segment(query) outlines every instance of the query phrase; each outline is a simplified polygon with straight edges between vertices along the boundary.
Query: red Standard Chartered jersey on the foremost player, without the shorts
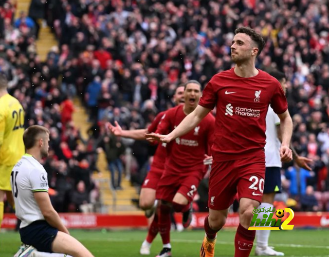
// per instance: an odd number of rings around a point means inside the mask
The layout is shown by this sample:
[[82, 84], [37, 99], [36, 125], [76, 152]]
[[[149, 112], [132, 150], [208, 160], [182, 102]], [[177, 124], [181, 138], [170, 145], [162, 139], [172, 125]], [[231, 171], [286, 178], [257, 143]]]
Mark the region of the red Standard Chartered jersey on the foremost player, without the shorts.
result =
[[200, 106], [216, 106], [212, 155], [217, 162], [264, 154], [266, 113], [277, 114], [288, 104], [280, 83], [268, 73], [244, 78], [234, 68], [214, 75], [203, 91]]

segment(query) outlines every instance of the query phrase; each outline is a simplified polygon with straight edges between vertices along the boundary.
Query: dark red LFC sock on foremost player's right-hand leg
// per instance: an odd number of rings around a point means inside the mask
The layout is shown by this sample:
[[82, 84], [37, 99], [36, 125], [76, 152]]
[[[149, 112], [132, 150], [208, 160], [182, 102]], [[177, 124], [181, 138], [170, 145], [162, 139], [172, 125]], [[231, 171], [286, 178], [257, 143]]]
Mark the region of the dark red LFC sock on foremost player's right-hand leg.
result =
[[255, 239], [256, 231], [248, 230], [239, 224], [235, 234], [235, 253], [234, 257], [248, 257]]

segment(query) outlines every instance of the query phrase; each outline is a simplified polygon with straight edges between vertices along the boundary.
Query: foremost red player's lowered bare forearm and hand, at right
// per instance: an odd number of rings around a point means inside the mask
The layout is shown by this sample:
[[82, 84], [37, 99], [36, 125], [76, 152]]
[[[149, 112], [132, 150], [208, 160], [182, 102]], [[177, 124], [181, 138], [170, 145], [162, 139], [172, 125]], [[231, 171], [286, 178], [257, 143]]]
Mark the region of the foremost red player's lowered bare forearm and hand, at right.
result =
[[291, 135], [293, 134], [293, 120], [291, 120], [289, 111], [278, 114], [280, 118], [280, 130], [282, 144], [280, 148], [280, 156], [282, 162], [291, 162], [293, 160], [293, 152], [289, 148]]

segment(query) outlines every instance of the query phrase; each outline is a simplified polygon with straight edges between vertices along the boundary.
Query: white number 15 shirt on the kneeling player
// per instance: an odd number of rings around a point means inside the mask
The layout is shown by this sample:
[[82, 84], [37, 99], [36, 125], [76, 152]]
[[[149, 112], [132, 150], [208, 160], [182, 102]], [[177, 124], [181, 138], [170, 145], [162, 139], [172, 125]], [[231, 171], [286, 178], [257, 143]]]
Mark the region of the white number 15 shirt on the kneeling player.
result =
[[34, 221], [45, 220], [33, 192], [48, 192], [45, 168], [30, 154], [25, 154], [13, 167], [10, 178], [16, 216], [24, 228]]

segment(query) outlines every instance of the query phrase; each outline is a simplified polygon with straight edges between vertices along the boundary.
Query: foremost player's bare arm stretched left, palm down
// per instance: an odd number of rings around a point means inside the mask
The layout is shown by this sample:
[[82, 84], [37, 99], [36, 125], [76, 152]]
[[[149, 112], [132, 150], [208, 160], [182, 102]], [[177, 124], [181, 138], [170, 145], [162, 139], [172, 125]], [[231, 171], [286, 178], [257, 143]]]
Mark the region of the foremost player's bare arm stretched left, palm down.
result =
[[185, 135], [190, 130], [195, 128], [202, 119], [211, 111], [211, 109], [198, 105], [193, 112], [187, 115], [184, 120], [168, 135], [160, 135], [156, 133], [146, 134], [147, 140], [158, 140], [164, 143], [176, 139], [181, 135]]

